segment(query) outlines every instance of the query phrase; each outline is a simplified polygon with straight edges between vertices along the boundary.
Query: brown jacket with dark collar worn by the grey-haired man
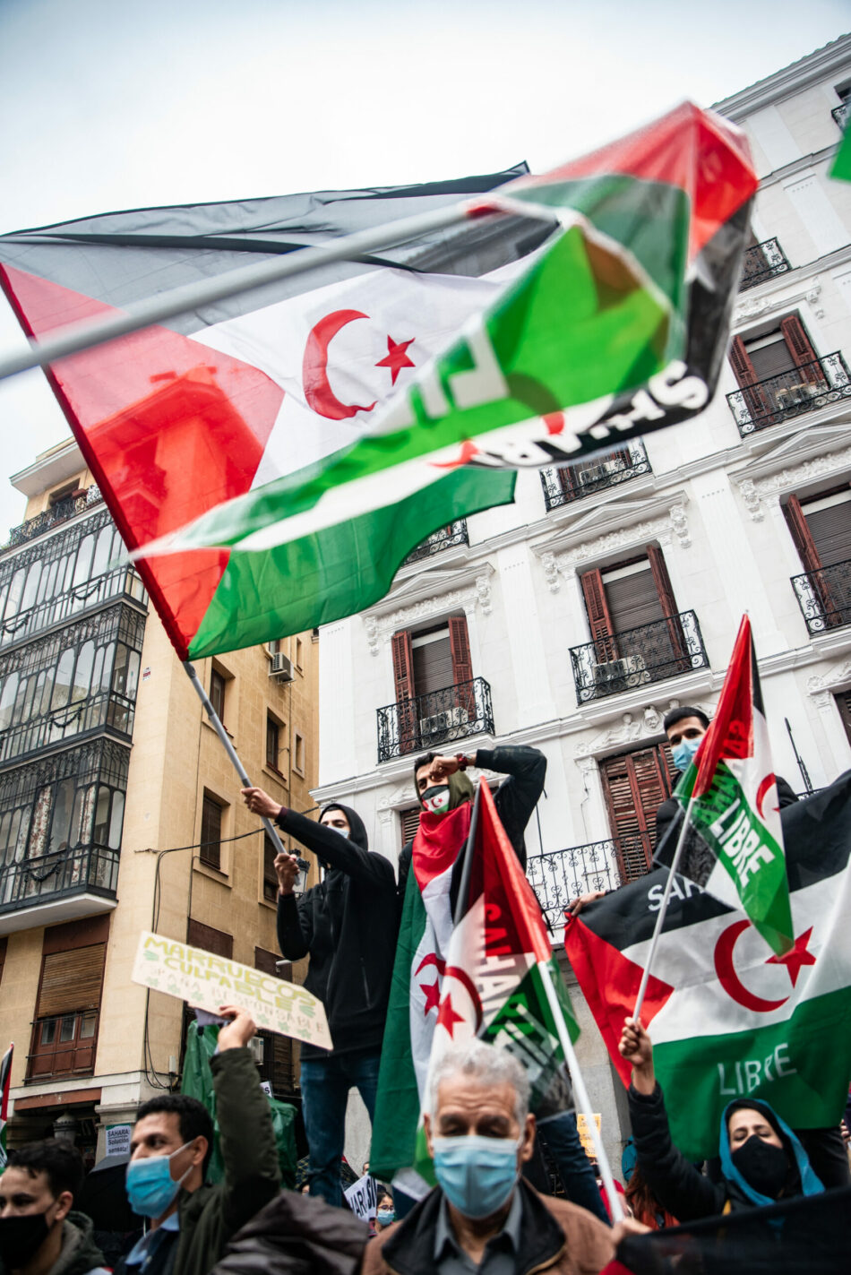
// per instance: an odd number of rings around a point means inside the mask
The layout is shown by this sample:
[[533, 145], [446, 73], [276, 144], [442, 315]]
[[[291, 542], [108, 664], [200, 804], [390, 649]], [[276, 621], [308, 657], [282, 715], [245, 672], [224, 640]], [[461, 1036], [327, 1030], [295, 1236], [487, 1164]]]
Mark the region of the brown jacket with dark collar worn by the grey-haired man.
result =
[[[614, 1257], [611, 1232], [586, 1209], [540, 1196], [520, 1179], [522, 1195], [516, 1275], [596, 1275]], [[434, 1187], [403, 1221], [371, 1239], [363, 1275], [434, 1275], [434, 1232], [442, 1191]]]

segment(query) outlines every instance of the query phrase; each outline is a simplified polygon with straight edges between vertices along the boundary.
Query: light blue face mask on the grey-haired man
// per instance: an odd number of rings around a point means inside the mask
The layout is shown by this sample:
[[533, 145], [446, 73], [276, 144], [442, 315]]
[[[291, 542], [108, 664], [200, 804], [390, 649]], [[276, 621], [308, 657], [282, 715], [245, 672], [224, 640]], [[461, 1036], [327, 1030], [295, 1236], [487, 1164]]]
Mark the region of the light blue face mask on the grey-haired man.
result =
[[436, 1137], [434, 1174], [450, 1204], [465, 1218], [488, 1218], [508, 1200], [517, 1181], [522, 1139]]

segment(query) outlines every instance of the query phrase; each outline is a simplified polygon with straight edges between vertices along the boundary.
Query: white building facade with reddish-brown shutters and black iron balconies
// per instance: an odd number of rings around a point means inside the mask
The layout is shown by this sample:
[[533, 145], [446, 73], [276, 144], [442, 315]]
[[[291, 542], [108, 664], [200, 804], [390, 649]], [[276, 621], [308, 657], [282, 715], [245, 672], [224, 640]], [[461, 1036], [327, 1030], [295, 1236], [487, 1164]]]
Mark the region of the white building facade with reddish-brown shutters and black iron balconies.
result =
[[[828, 177], [850, 101], [843, 37], [716, 106], [761, 189], [706, 412], [521, 472], [513, 505], [432, 537], [381, 603], [321, 630], [315, 796], [355, 806], [391, 861], [418, 754], [535, 745], [529, 875], [558, 935], [567, 899], [646, 871], [675, 778], [662, 717], [712, 715], [745, 611], [777, 773], [805, 792], [851, 765], [851, 185]], [[623, 1091], [580, 1010], [617, 1165]]]

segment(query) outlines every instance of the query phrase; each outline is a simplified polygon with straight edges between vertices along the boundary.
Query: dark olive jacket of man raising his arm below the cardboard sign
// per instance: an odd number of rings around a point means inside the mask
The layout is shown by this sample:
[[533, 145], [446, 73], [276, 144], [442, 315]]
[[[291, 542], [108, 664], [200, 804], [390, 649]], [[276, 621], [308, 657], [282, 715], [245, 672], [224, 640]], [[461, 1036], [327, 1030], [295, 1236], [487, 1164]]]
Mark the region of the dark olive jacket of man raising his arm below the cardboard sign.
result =
[[278, 1145], [257, 1065], [247, 1049], [210, 1060], [224, 1178], [181, 1193], [173, 1275], [208, 1275], [231, 1237], [280, 1188]]

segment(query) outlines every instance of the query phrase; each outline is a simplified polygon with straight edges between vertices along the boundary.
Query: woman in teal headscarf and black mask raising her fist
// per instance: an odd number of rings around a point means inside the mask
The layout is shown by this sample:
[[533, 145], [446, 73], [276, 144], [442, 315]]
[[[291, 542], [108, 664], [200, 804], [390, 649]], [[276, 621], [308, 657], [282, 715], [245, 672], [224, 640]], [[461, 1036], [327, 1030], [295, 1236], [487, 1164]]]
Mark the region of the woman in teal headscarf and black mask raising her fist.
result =
[[638, 1168], [660, 1205], [680, 1221], [824, 1190], [795, 1133], [757, 1098], [738, 1098], [725, 1107], [719, 1132], [721, 1181], [703, 1177], [671, 1141], [652, 1044], [636, 1019], [626, 1020], [619, 1049], [632, 1063], [628, 1099]]

